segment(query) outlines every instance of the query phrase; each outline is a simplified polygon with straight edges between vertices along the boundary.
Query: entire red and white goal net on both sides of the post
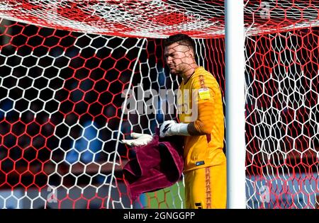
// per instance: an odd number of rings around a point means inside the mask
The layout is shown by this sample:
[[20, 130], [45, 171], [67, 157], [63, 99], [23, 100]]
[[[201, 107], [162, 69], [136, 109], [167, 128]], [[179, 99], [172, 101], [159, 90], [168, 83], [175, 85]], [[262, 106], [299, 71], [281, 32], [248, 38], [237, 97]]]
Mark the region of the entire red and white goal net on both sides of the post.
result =
[[[134, 153], [120, 140], [176, 118], [158, 97], [180, 83], [168, 35], [195, 38], [224, 94], [223, 5], [0, 1], [0, 207], [183, 208], [183, 179], [130, 200], [121, 170]], [[318, 6], [245, 1], [248, 208], [319, 204]]]

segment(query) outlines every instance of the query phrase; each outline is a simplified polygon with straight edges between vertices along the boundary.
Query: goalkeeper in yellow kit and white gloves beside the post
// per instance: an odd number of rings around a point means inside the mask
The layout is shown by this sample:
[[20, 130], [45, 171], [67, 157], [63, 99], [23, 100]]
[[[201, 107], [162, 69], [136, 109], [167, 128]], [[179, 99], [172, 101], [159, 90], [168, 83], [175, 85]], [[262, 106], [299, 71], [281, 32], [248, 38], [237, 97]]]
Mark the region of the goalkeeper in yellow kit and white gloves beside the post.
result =
[[[172, 35], [164, 40], [164, 57], [171, 74], [183, 78], [177, 105], [179, 123], [164, 121], [160, 137], [184, 135], [186, 208], [226, 207], [226, 159], [223, 153], [224, 115], [218, 82], [195, 61], [194, 40]], [[152, 137], [123, 140], [137, 146]]]

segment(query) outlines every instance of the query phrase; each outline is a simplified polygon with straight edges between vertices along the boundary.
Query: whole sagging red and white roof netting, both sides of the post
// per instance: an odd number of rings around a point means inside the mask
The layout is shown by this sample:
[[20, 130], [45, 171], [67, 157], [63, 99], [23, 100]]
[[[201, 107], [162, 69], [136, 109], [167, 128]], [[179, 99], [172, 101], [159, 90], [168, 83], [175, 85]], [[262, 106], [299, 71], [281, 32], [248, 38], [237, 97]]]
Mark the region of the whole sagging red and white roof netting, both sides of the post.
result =
[[[224, 34], [224, 1], [21, 0], [1, 1], [0, 15], [61, 30], [162, 38], [183, 32], [194, 38]], [[245, 0], [247, 34], [318, 25], [316, 0]]]

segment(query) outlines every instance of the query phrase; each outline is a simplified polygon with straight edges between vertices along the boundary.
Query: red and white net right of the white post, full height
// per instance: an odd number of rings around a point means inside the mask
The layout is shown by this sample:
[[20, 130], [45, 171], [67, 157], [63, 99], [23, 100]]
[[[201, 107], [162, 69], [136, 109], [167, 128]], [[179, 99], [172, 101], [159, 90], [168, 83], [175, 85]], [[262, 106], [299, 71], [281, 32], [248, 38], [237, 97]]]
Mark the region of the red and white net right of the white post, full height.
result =
[[245, 8], [255, 18], [245, 40], [247, 207], [317, 208], [318, 1], [253, 3]]

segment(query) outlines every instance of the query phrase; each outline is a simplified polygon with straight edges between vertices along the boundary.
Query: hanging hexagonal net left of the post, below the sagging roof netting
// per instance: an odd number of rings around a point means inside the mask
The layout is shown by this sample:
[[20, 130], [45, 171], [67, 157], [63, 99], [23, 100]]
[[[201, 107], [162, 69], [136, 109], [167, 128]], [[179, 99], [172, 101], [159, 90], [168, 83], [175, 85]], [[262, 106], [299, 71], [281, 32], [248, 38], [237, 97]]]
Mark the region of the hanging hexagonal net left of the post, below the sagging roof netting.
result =
[[[220, 86], [223, 45], [223, 38], [196, 39], [198, 63]], [[132, 201], [121, 171], [134, 156], [121, 139], [154, 133], [176, 117], [153, 101], [180, 81], [164, 69], [161, 39], [1, 19], [0, 52], [0, 207], [183, 207], [182, 181]], [[124, 106], [127, 89], [137, 94], [135, 104], [157, 106], [156, 113]]]

